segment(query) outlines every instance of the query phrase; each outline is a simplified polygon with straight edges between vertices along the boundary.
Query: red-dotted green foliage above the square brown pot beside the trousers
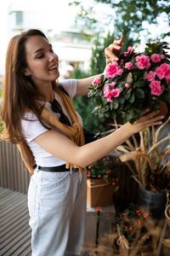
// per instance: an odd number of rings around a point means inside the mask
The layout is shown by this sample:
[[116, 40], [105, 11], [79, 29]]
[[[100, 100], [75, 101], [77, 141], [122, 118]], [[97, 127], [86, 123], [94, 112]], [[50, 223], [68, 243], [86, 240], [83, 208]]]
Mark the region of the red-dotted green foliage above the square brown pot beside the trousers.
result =
[[88, 178], [101, 178], [117, 187], [120, 166], [121, 161], [118, 158], [113, 155], [105, 156], [93, 165], [88, 166]]

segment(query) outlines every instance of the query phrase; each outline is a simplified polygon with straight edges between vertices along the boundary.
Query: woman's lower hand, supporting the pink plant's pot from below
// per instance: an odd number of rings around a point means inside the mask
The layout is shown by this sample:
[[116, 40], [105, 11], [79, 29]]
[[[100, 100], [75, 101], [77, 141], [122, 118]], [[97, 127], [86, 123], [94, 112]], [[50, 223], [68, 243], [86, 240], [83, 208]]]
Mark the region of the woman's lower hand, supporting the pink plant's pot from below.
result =
[[144, 130], [147, 127], [150, 127], [151, 125], [161, 125], [161, 119], [164, 119], [163, 115], [157, 116], [157, 112], [150, 112], [150, 109], [146, 109], [143, 112], [143, 116], [138, 119], [136, 122], [134, 122], [133, 125], [131, 125], [133, 129], [133, 133], [139, 132]]

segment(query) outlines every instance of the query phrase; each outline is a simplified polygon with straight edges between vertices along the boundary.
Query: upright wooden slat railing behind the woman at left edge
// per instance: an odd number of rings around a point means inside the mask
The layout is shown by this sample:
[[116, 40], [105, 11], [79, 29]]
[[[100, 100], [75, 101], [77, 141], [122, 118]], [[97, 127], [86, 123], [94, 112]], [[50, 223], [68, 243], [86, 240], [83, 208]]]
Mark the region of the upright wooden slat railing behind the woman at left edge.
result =
[[24, 170], [24, 163], [16, 146], [0, 142], [0, 186], [26, 193], [30, 174]]

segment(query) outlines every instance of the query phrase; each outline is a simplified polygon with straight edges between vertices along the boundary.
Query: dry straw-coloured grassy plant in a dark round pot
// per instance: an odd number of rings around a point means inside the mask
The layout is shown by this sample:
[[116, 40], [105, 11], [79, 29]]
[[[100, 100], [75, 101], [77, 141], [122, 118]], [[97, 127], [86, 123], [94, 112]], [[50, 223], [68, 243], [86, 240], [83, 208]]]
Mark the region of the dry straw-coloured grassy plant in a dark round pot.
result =
[[[151, 127], [139, 132], [116, 148], [119, 157], [139, 183], [139, 204], [150, 207], [155, 218], [161, 218], [170, 190], [170, 117], [159, 128]], [[167, 129], [167, 136], [161, 131]], [[153, 201], [154, 200], [154, 201]], [[160, 204], [159, 204], [160, 203]], [[151, 209], [153, 208], [153, 209]]]

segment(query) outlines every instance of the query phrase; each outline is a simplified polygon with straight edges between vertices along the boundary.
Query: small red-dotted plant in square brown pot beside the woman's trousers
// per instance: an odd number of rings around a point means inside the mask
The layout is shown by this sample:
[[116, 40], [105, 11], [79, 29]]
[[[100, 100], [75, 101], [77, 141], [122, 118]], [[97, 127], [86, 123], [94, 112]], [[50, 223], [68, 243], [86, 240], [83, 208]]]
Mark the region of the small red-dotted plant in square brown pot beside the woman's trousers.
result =
[[111, 154], [88, 166], [88, 206], [106, 207], [113, 204], [113, 193], [119, 183], [117, 172], [120, 172], [120, 168], [121, 161]]

